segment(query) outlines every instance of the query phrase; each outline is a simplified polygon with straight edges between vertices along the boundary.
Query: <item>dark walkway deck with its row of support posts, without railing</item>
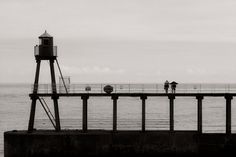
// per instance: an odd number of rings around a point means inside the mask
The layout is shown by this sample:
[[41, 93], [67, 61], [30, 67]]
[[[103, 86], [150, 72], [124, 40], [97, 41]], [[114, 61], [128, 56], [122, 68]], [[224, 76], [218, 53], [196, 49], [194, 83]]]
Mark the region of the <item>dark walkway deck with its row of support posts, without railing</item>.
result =
[[[69, 94], [30, 94], [30, 97], [80, 97], [83, 102], [83, 131], [86, 132], [87, 129], [87, 116], [88, 116], [88, 99], [90, 97], [110, 97], [113, 101], [113, 131], [116, 131], [117, 128], [117, 100], [120, 97], [139, 97], [142, 102], [142, 131], [145, 131], [145, 109], [146, 109], [146, 99], [148, 97], [167, 97], [169, 99], [169, 131], [174, 131], [174, 100], [176, 97], [193, 97], [196, 98], [197, 105], [197, 128], [198, 132], [202, 132], [202, 100], [204, 97], [224, 97], [226, 105], [226, 134], [231, 134], [231, 100], [236, 93], [174, 93], [174, 94], [165, 94], [165, 93], [115, 93], [115, 94], [106, 94], [106, 93], [69, 93]], [[60, 122], [60, 120], [59, 120]]]

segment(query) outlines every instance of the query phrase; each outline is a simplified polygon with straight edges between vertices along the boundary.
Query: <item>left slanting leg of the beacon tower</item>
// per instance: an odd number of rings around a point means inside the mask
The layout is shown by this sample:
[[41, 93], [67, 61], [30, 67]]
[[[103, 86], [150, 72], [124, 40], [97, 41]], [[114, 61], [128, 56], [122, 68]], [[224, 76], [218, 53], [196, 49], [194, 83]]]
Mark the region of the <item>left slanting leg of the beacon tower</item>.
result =
[[36, 60], [37, 67], [36, 67], [36, 73], [35, 73], [35, 80], [34, 80], [34, 86], [33, 86], [33, 94], [34, 96], [31, 97], [31, 109], [30, 109], [30, 118], [29, 118], [29, 124], [28, 124], [28, 132], [32, 132], [34, 129], [34, 118], [35, 118], [35, 109], [36, 109], [36, 102], [38, 97], [36, 94], [38, 93], [38, 82], [39, 82], [39, 72], [40, 72], [40, 60]]

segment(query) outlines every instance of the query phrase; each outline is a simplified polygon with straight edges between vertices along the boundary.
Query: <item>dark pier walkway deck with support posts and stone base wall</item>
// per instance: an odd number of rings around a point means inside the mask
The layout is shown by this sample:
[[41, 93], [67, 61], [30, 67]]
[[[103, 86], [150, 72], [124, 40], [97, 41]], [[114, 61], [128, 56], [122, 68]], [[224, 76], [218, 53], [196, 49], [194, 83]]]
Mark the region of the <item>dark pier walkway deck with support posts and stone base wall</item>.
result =
[[[11, 131], [4, 134], [5, 157], [17, 156], [100, 156], [100, 155], [232, 155], [236, 150], [236, 134], [231, 131], [231, 100], [236, 93], [37, 93], [31, 98], [80, 97], [82, 101], [82, 129], [61, 130], [60, 119], [55, 130]], [[91, 97], [108, 97], [113, 105], [112, 130], [88, 128], [88, 100]], [[118, 99], [139, 97], [142, 109], [140, 131], [117, 130]], [[166, 97], [169, 100], [169, 130], [146, 129], [146, 100]], [[193, 97], [197, 105], [197, 130], [174, 129], [175, 98]], [[226, 105], [225, 133], [202, 132], [202, 106], [206, 97], [222, 97]], [[56, 119], [54, 119], [56, 120]], [[59, 126], [56, 126], [59, 124]], [[59, 130], [58, 130], [59, 128]], [[14, 148], [14, 149], [13, 149]], [[24, 148], [24, 149], [22, 149]], [[12, 151], [14, 150], [14, 151]]]

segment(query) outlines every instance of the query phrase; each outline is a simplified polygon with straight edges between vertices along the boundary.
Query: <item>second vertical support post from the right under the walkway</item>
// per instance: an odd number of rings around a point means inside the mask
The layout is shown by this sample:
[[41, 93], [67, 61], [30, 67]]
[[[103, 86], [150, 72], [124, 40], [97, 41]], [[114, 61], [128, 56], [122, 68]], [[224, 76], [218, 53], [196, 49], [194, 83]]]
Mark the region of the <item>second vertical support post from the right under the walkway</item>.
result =
[[196, 96], [197, 99], [197, 130], [199, 133], [202, 133], [202, 100], [203, 96]]

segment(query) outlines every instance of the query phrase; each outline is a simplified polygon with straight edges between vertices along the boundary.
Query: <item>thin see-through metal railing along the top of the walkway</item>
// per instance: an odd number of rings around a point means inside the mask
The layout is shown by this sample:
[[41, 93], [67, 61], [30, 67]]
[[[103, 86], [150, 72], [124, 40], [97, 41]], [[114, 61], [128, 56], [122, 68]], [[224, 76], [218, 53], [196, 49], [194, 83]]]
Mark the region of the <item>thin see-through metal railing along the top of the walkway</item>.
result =
[[[105, 93], [104, 87], [113, 87], [112, 93], [165, 93], [163, 84], [66, 84], [68, 93]], [[38, 93], [66, 93], [63, 84], [38, 84]], [[34, 85], [32, 85], [33, 91]], [[171, 93], [171, 87], [168, 90]], [[176, 93], [236, 93], [236, 84], [178, 84]]]

